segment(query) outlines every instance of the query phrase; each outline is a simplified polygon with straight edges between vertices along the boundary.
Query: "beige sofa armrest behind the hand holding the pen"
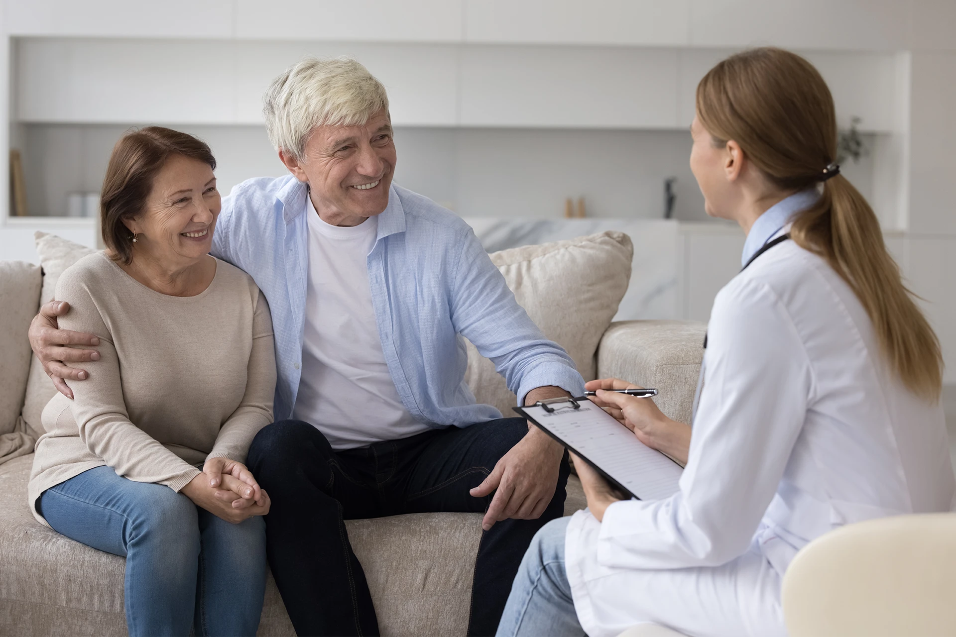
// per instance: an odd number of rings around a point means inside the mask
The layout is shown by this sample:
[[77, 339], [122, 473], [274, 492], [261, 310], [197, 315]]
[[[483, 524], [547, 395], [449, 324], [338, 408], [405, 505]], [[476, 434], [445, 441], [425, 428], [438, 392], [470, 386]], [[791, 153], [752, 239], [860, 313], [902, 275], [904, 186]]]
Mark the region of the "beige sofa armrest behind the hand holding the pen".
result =
[[661, 393], [661, 411], [690, 423], [704, 359], [706, 325], [697, 321], [612, 323], [597, 346], [597, 377], [615, 376]]

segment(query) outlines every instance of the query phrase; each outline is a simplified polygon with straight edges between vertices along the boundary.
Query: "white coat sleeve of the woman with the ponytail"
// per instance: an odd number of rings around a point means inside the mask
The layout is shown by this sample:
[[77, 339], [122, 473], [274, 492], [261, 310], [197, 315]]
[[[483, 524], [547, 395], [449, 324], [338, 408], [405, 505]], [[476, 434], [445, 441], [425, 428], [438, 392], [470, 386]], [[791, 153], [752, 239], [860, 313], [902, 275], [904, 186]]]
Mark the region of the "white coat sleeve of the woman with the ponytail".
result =
[[704, 387], [680, 491], [609, 506], [597, 561], [619, 568], [714, 566], [742, 555], [783, 476], [814, 376], [770, 287], [722, 290], [708, 326]]

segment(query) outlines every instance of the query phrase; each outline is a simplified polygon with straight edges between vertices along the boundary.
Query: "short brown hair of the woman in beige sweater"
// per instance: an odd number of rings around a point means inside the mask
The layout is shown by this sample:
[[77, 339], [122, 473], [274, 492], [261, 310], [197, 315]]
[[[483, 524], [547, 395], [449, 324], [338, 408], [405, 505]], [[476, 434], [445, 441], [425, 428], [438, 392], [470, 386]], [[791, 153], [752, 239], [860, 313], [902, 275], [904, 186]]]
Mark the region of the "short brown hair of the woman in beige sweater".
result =
[[173, 155], [199, 159], [216, 169], [206, 142], [162, 126], [129, 131], [113, 147], [99, 196], [99, 223], [114, 260], [123, 264], [133, 260], [133, 235], [123, 221], [142, 214], [153, 180]]

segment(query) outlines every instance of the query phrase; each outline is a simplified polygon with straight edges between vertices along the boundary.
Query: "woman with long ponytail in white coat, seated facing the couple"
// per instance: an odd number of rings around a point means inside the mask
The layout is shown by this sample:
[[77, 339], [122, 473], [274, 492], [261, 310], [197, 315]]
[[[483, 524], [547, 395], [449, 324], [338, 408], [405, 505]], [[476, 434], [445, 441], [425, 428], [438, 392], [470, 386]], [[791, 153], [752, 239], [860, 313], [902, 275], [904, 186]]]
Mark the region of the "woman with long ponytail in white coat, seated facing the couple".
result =
[[780, 584], [801, 547], [842, 524], [952, 508], [939, 342], [839, 175], [820, 74], [778, 49], [733, 55], [698, 86], [691, 134], [707, 214], [740, 223], [750, 263], [714, 300], [693, 434], [649, 399], [596, 400], [686, 462], [680, 491], [621, 500], [576, 460], [589, 510], [535, 536], [499, 637], [644, 622], [785, 635]]

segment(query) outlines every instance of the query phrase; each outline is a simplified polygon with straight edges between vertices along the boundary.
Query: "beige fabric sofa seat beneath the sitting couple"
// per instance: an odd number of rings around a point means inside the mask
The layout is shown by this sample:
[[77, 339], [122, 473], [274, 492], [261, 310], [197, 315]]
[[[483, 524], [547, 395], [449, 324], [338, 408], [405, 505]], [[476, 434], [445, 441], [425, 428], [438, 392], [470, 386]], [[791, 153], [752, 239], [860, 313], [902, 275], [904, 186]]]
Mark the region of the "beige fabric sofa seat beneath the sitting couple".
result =
[[[33, 518], [27, 506], [32, 465], [30, 455], [0, 466], [0, 635], [125, 635], [123, 559]], [[568, 505], [566, 513], [583, 505], [576, 478]], [[466, 633], [481, 518], [422, 513], [345, 522], [383, 637]], [[272, 574], [258, 634], [294, 635]]]

